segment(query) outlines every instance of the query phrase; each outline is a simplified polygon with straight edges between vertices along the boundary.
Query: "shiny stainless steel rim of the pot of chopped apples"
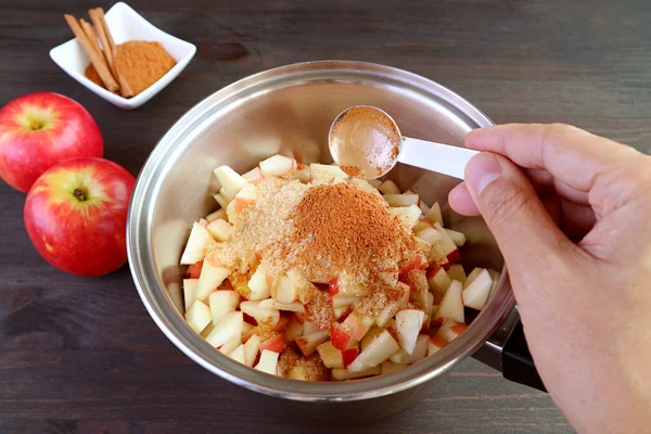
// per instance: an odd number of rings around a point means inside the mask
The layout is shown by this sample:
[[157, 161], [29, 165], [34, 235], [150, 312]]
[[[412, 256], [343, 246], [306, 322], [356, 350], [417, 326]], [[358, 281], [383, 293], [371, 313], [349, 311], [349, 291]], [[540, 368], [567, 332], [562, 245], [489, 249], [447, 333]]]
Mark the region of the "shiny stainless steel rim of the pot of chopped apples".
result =
[[347, 382], [302, 382], [255, 371], [216, 352], [187, 326], [168, 299], [157, 276], [151, 253], [151, 222], [155, 206], [152, 197], [163, 183], [162, 173], [180, 157], [183, 146], [178, 142], [191, 141], [194, 127], [209, 122], [216, 107], [270, 89], [295, 86], [310, 80], [336, 81], [369, 78], [388, 79], [417, 91], [424, 98], [436, 94], [461, 116], [480, 126], [494, 125], [478, 108], [459, 94], [430, 79], [407, 71], [374, 63], [355, 61], [316, 61], [276, 67], [240, 79], [207, 97], [186, 112], [161, 138], [142, 167], [129, 205], [127, 220], [127, 253], [133, 282], [148, 312], [165, 335], [188, 357], [208, 371], [234, 384], [266, 395], [299, 401], [350, 401], [391, 395], [416, 387], [445, 374], [455, 365], [472, 355], [499, 328], [515, 305], [506, 267], [498, 289], [486, 307], [458, 339], [435, 355], [408, 369], [372, 379]]

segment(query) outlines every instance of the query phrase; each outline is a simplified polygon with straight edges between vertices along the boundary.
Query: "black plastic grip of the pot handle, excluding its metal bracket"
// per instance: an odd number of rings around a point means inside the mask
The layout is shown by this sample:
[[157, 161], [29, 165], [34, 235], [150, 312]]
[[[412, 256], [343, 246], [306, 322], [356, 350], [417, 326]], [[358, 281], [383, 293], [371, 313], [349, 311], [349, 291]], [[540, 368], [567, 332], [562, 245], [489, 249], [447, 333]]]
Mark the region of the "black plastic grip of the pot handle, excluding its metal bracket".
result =
[[505, 379], [547, 392], [528, 350], [520, 320], [502, 347], [501, 367]]

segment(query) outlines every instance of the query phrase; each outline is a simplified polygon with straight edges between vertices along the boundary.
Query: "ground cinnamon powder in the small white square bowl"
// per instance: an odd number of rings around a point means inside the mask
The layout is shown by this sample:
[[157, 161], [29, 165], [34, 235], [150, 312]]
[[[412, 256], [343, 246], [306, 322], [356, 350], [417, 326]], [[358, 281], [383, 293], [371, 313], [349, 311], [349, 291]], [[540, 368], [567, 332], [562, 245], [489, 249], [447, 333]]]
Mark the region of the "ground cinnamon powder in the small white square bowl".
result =
[[[128, 41], [116, 47], [115, 66], [125, 77], [133, 94], [138, 94], [156, 82], [176, 65], [175, 59], [158, 42]], [[86, 77], [98, 82], [97, 72], [92, 64], [84, 73]]]

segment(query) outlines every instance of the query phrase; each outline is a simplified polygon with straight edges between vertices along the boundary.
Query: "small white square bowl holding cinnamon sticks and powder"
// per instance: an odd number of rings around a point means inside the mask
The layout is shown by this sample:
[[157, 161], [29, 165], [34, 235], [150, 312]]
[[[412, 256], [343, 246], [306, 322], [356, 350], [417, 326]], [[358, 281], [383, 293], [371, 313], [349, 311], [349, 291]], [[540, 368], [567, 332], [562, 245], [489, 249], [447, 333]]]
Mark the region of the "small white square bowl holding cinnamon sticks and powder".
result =
[[136, 97], [123, 98], [86, 78], [84, 72], [90, 60], [76, 38], [50, 50], [50, 58], [71, 77], [120, 108], [133, 110], [148, 102], [183, 71], [196, 52], [194, 44], [158, 29], [124, 2], [115, 3], [105, 16], [116, 44], [129, 40], [159, 42], [177, 62], [163, 77]]

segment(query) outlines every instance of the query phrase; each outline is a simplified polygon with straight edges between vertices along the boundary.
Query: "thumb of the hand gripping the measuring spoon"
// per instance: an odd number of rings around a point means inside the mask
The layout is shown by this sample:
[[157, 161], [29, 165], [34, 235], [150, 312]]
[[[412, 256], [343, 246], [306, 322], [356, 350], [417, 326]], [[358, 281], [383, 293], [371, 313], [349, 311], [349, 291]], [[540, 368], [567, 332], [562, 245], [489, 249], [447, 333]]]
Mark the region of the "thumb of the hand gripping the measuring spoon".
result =
[[465, 167], [465, 186], [510, 268], [552, 259], [570, 241], [533, 186], [508, 158], [481, 153]]

